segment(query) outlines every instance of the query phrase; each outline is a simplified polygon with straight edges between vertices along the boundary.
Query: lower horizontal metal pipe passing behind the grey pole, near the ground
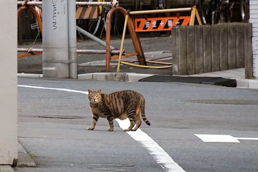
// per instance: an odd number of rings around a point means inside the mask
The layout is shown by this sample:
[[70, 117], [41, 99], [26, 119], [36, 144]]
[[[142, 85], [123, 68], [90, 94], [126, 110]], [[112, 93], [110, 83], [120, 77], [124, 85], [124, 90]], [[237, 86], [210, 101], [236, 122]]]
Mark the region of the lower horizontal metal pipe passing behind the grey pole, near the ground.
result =
[[[40, 48], [17, 48], [17, 52], [42, 52]], [[106, 50], [76, 50], [78, 54], [106, 54]], [[110, 54], [119, 54], [120, 50], [112, 50]], [[122, 50], [122, 55], [125, 55], [125, 50]]]

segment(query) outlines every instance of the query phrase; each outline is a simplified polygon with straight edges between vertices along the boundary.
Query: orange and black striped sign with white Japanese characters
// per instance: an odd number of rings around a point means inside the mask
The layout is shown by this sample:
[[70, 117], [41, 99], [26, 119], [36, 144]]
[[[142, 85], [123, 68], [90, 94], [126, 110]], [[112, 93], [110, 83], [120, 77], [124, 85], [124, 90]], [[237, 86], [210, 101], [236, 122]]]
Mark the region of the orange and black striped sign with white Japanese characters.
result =
[[172, 26], [187, 26], [190, 16], [134, 19], [135, 32], [171, 30]]

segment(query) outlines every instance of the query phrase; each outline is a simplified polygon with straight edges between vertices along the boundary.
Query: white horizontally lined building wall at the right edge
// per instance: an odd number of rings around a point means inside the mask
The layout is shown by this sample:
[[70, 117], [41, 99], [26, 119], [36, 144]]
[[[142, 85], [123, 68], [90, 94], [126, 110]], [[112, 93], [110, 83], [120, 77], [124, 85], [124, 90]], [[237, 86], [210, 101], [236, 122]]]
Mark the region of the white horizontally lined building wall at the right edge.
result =
[[250, 19], [253, 25], [253, 76], [258, 78], [258, 0], [249, 0]]

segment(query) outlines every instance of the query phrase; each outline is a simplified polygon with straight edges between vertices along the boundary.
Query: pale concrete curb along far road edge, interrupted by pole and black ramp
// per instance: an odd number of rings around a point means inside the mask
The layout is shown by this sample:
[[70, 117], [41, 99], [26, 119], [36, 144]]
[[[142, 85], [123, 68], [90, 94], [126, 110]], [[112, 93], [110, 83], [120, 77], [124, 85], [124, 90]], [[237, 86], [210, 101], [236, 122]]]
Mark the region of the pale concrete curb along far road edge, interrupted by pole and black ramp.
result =
[[[42, 74], [26, 74], [18, 73], [18, 77], [40, 77]], [[80, 80], [95, 80], [95, 81], [124, 81], [124, 82], [138, 82], [139, 79], [153, 76], [153, 74], [141, 74], [141, 73], [85, 73], [79, 74], [78, 79]], [[177, 75], [176, 75], [177, 76]], [[251, 88], [258, 89], [258, 80], [254, 79], [237, 79], [236, 87], [239, 88]]]

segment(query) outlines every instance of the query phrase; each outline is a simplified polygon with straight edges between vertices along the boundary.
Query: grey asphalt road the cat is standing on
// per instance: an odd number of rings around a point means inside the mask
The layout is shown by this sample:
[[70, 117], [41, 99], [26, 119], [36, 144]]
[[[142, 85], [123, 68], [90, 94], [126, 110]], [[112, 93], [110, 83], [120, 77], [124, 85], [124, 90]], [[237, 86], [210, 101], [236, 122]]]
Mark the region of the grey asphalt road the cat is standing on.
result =
[[[194, 135], [258, 138], [258, 105], [183, 102], [258, 100], [258, 90], [186, 83], [25, 78], [18, 78], [18, 85], [18, 140], [28, 153], [36, 156], [37, 167], [15, 168], [17, 172], [158, 172], [174, 168], [179, 171], [258, 171], [258, 140], [204, 142]], [[124, 132], [117, 121], [114, 121], [114, 131], [108, 132], [106, 119], [100, 119], [96, 128], [89, 131], [92, 114], [87, 94], [20, 85], [78, 91], [102, 89], [103, 93], [131, 89], [145, 97], [146, 118], [151, 125], [142, 122], [142, 132], [136, 131], [138, 138]], [[145, 139], [147, 137], [151, 139]], [[153, 145], [156, 147], [151, 147]]]

